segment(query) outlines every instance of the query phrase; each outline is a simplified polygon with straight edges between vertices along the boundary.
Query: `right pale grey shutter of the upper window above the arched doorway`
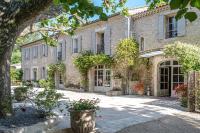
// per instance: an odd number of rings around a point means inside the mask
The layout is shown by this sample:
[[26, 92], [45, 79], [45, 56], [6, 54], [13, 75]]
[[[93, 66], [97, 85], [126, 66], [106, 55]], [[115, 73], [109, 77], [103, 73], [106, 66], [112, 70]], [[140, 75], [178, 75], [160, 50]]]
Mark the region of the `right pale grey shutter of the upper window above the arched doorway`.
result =
[[186, 20], [185, 18], [181, 18], [177, 22], [177, 32], [178, 36], [184, 36], [185, 35], [185, 27], [186, 27]]

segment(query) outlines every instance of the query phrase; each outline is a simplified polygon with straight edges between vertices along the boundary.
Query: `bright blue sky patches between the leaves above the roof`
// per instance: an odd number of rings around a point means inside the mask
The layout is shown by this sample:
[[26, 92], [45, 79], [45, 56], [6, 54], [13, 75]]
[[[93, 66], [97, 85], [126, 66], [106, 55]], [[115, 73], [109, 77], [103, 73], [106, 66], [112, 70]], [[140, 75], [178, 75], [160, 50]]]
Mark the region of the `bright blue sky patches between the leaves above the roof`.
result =
[[[95, 4], [100, 5], [102, 0], [93, 0]], [[126, 6], [128, 8], [140, 7], [146, 4], [145, 0], [128, 0]]]

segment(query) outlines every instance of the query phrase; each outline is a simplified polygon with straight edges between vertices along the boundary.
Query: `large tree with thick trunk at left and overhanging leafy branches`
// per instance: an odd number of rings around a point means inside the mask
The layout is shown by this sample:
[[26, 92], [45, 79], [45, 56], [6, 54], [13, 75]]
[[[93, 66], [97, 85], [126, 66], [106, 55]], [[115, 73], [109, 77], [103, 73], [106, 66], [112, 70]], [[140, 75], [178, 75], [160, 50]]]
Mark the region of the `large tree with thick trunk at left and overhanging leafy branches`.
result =
[[[80, 20], [87, 20], [94, 15], [106, 20], [107, 13], [122, 8], [126, 0], [103, 0], [102, 6], [94, 5], [91, 0], [1, 0], [0, 1], [0, 117], [12, 113], [10, 87], [10, 60], [17, 37], [34, 22], [43, 20], [47, 26], [49, 14], [53, 9], [62, 8], [57, 24], [65, 27], [65, 33], [72, 33], [80, 25]], [[54, 5], [53, 5], [54, 4]], [[52, 7], [52, 8], [51, 8]], [[54, 8], [55, 7], [55, 8]], [[49, 9], [49, 10], [48, 10]], [[58, 15], [58, 14], [57, 14]], [[52, 18], [52, 17], [51, 17]], [[56, 25], [54, 24], [56, 27]], [[32, 26], [30, 26], [32, 27]], [[31, 31], [32, 28], [30, 28]], [[42, 34], [45, 38], [48, 34]]]

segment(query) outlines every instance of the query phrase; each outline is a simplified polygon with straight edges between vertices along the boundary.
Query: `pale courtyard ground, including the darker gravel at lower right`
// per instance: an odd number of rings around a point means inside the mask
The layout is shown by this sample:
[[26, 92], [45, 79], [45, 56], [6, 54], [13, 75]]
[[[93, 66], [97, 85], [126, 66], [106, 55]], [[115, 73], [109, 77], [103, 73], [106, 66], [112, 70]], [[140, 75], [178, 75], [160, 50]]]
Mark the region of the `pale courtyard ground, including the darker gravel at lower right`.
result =
[[[81, 98], [101, 100], [96, 128], [101, 133], [192, 133], [200, 132], [200, 115], [186, 112], [177, 99], [147, 96], [110, 97], [96, 93], [59, 91], [63, 101]], [[60, 114], [62, 115], [62, 114]], [[64, 116], [55, 130], [70, 128], [69, 115]]]

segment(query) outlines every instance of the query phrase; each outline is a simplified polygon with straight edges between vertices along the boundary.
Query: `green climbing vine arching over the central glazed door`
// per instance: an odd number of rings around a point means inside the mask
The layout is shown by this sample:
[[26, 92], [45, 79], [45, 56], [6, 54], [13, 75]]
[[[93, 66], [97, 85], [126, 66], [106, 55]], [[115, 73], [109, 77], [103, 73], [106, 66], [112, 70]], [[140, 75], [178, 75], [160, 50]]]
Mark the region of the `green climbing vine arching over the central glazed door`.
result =
[[83, 87], [87, 87], [87, 74], [89, 69], [99, 64], [112, 66], [113, 58], [105, 54], [93, 54], [90, 51], [85, 51], [80, 56], [75, 58], [74, 64], [81, 73]]

